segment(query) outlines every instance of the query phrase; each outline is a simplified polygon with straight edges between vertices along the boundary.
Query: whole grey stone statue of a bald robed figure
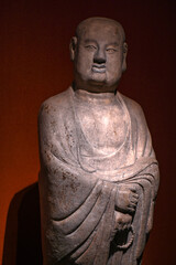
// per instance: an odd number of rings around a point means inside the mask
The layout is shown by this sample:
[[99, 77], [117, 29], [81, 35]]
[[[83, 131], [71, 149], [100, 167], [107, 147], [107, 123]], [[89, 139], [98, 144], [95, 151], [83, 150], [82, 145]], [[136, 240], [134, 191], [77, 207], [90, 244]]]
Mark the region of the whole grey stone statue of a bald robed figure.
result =
[[141, 264], [158, 167], [141, 107], [117, 91], [127, 52], [120, 23], [82, 21], [73, 85], [41, 107], [44, 265]]

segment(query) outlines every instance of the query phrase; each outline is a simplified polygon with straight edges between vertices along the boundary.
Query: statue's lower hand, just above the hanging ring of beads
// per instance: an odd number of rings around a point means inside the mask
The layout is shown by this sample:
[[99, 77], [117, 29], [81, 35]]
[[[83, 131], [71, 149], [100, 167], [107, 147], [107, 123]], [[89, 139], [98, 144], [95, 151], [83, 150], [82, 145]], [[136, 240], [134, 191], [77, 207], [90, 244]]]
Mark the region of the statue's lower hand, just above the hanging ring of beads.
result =
[[114, 225], [116, 231], [123, 231], [123, 230], [130, 229], [131, 222], [132, 222], [132, 215], [129, 213], [121, 213], [121, 212], [114, 211], [114, 220], [116, 220], [116, 225]]

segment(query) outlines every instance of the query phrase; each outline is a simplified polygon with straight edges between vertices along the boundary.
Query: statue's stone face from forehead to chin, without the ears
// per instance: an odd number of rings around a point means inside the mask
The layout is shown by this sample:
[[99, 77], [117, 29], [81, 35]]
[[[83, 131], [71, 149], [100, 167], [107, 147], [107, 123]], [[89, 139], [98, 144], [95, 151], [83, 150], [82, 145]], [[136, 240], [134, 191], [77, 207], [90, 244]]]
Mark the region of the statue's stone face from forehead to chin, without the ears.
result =
[[114, 91], [122, 74], [123, 41], [113, 23], [94, 22], [78, 39], [75, 81], [79, 88]]

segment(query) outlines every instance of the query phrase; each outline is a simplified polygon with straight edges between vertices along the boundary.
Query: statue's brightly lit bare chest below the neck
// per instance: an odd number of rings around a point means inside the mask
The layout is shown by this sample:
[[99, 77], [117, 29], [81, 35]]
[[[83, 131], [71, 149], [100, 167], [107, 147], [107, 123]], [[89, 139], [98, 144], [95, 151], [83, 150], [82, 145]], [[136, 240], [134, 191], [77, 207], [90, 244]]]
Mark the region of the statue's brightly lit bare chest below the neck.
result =
[[128, 124], [121, 107], [79, 106], [77, 116], [81, 131], [91, 147], [111, 153], [125, 140]]

